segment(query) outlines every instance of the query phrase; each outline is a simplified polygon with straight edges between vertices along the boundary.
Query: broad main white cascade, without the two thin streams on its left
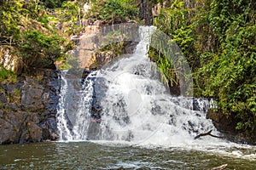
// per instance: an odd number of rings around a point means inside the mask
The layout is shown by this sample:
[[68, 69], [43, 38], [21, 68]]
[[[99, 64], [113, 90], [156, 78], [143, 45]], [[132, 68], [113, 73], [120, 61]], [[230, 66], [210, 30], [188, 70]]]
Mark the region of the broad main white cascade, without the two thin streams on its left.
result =
[[198, 133], [212, 130], [218, 134], [206, 119], [207, 100], [197, 99], [201, 111], [193, 111], [192, 98], [167, 93], [156, 65], [148, 59], [154, 27], [140, 27], [139, 31], [141, 41], [135, 53], [98, 75], [108, 87], [101, 100], [104, 115], [100, 139], [175, 146], [194, 142]]

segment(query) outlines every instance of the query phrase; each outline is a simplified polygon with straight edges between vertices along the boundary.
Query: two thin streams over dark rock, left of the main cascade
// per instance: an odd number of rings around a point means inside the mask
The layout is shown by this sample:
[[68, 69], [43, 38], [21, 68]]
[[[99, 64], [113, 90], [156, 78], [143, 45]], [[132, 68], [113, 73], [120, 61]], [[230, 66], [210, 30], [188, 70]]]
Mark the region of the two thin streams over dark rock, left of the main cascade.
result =
[[90, 75], [82, 84], [68, 71], [61, 74], [61, 99], [57, 109], [60, 140], [85, 140], [90, 124], [93, 80]]

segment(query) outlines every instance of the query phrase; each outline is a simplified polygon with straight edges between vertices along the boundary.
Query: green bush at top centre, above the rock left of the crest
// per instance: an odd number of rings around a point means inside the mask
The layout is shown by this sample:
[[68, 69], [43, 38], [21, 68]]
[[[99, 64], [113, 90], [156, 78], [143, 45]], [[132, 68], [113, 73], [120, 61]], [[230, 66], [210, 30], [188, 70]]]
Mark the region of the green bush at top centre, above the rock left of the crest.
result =
[[110, 24], [136, 20], [137, 15], [137, 7], [131, 0], [96, 0], [89, 12], [90, 17], [106, 20]]

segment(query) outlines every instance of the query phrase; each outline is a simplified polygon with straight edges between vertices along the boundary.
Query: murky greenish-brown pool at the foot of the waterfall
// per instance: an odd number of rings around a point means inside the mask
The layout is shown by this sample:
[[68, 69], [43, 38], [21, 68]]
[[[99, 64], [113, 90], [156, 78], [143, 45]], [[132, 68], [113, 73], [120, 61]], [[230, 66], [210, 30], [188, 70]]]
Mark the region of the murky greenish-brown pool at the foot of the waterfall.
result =
[[225, 169], [253, 170], [255, 156], [248, 157], [253, 154], [255, 149], [248, 148], [218, 152], [86, 141], [10, 144], [0, 145], [0, 169], [211, 169], [228, 164]]

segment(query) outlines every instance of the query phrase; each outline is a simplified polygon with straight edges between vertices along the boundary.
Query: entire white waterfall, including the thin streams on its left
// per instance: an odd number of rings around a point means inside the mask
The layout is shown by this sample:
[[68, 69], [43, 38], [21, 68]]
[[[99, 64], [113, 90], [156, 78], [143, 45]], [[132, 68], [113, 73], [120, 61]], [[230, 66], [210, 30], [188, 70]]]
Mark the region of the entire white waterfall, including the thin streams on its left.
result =
[[[83, 85], [68, 78], [67, 71], [62, 72], [57, 114], [61, 140], [96, 139], [171, 146], [193, 143], [198, 133], [209, 130], [218, 135], [211, 120], [206, 118], [210, 107], [207, 100], [174, 97], [160, 81], [157, 66], [148, 59], [154, 29], [140, 26], [140, 42], [134, 54], [124, 55], [113, 65], [91, 73]], [[90, 121], [95, 98], [102, 107], [101, 123]], [[221, 139], [209, 137], [207, 142], [210, 140], [218, 144]]]

